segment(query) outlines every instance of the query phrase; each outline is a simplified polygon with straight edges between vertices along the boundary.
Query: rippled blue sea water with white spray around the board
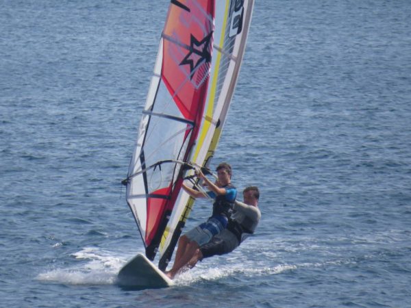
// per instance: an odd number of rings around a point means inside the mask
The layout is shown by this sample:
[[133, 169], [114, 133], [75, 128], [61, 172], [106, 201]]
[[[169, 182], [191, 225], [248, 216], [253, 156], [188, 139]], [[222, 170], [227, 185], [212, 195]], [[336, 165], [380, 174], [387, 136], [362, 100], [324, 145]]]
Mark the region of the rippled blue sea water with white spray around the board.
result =
[[257, 0], [213, 160], [260, 187], [256, 234], [173, 287], [116, 285], [168, 5], [0, 1], [0, 306], [410, 307], [408, 0]]

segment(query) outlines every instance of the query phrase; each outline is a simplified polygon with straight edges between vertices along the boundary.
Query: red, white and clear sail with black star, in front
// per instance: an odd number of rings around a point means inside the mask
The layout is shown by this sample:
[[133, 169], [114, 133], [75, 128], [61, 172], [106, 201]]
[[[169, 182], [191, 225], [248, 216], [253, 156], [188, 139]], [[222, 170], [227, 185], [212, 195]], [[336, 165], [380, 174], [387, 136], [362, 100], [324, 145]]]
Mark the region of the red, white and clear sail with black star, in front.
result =
[[172, 0], [129, 166], [126, 198], [154, 259], [197, 140], [214, 31], [214, 0]]

